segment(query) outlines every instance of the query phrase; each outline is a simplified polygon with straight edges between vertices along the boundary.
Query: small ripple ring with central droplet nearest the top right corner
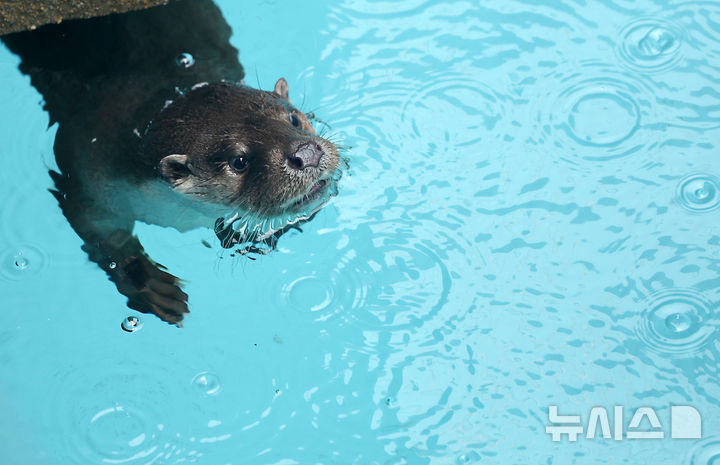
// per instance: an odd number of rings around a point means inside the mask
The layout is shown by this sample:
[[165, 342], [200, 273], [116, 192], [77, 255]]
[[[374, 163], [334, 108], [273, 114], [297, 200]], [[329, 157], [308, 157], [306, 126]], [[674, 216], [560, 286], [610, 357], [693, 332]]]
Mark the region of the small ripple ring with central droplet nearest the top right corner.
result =
[[682, 33], [674, 24], [660, 18], [640, 18], [620, 33], [617, 48], [620, 60], [632, 69], [660, 72], [682, 60]]

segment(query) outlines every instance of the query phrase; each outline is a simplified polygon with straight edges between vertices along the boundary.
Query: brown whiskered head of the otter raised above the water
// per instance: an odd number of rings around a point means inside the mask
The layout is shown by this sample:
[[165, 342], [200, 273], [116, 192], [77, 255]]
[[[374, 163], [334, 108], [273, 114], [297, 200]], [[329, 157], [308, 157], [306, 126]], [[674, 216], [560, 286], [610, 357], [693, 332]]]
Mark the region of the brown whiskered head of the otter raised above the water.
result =
[[339, 164], [282, 78], [272, 92], [196, 86], [151, 123], [142, 150], [176, 192], [265, 218], [319, 204]]

